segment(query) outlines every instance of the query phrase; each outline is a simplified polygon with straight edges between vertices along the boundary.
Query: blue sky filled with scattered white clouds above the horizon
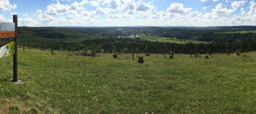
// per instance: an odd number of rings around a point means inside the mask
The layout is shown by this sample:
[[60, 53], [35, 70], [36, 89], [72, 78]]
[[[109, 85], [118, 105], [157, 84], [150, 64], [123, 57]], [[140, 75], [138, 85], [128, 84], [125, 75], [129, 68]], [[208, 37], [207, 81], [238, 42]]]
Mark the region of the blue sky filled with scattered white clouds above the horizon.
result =
[[18, 26], [256, 25], [256, 0], [0, 0], [0, 22]]

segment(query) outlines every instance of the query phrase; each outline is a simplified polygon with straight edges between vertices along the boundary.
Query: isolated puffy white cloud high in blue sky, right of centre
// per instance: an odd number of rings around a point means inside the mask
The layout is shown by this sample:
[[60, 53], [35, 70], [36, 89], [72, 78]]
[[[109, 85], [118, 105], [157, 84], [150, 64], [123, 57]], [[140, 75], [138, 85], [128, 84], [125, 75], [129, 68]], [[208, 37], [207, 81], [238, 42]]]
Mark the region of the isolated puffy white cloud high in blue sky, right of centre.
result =
[[179, 13], [184, 14], [190, 12], [192, 8], [184, 8], [182, 3], [172, 3], [167, 9], [168, 13]]

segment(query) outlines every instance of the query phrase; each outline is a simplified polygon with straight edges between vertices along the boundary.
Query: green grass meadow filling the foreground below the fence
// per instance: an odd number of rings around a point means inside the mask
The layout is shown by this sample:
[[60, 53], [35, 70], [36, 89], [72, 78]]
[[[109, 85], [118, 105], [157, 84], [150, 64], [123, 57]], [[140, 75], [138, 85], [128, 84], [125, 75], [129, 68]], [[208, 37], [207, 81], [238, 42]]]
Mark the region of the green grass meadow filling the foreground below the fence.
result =
[[0, 59], [0, 113], [252, 114], [256, 52], [245, 54], [151, 54], [139, 64], [131, 54], [66, 59], [66, 52], [19, 50], [18, 79], [24, 84], [9, 81], [12, 57]]

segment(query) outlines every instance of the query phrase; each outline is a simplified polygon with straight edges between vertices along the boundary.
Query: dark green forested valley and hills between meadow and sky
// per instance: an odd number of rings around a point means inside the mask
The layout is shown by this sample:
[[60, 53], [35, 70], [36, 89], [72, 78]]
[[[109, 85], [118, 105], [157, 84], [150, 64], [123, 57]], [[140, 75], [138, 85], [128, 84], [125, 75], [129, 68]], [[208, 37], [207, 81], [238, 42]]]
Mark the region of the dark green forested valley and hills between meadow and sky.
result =
[[[254, 51], [255, 33], [226, 33], [256, 30], [254, 26], [239, 27], [18, 27], [18, 46], [56, 50], [92, 50], [96, 52], [205, 53]], [[136, 34], [211, 41], [211, 43], [160, 43], [131, 38]], [[120, 38], [121, 37], [121, 38]]]

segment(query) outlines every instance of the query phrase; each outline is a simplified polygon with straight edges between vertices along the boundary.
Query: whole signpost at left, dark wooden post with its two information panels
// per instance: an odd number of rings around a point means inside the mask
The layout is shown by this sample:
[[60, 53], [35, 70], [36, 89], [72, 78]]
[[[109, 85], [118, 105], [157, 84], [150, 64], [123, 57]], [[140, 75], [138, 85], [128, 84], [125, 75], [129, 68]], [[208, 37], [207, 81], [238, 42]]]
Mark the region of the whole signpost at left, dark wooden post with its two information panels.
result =
[[13, 82], [18, 81], [18, 16], [13, 15], [13, 22], [1, 22], [0, 23], [0, 38], [11, 38], [4, 46], [0, 47], [0, 58], [13, 55]]

